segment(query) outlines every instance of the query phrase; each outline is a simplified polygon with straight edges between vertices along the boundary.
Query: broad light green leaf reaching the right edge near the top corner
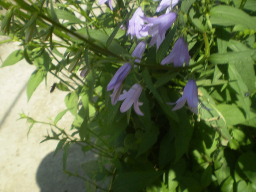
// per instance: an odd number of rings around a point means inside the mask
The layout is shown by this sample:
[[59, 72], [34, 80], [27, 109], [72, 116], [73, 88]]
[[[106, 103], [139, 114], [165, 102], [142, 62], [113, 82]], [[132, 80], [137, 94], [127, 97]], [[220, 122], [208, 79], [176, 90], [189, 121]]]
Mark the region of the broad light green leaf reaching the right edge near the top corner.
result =
[[213, 25], [232, 26], [243, 25], [249, 29], [256, 30], [256, 18], [249, 16], [244, 11], [227, 6], [218, 5], [210, 10], [210, 22]]

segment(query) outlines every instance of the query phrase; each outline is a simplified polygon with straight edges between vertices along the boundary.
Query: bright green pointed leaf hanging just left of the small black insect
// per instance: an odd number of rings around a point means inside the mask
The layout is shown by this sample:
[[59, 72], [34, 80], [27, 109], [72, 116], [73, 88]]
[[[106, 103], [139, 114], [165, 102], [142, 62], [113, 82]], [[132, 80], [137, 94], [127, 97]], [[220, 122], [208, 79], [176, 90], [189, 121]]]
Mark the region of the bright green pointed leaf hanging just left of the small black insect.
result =
[[29, 82], [27, 83], [27, 101], [29, 101], [35, 89], [37, 89], [38, 85], [44, 80], [46, 74], [47, 71], [35, 70], [30, 76]]

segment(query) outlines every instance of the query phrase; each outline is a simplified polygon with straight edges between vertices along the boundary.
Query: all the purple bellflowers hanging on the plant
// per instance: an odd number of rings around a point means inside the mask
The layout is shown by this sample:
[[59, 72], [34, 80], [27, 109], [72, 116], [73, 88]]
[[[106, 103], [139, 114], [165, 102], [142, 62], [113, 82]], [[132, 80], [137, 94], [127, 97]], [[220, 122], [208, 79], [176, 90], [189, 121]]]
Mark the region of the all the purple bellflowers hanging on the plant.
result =
[[[108, 1], [110, 9], [113, 10], [111, 0], [99, 0], [99, 4], [106, 3], [106, 1]], [[145, 16], [142, 8], [138, 7], [132, 18], [129, 20], [127, 35], [130, 34], [131, 39], [133, 39], [133, 37], [140, 39], [150, 35], [151, 41], [149, 43], [149, 47], [156, 44], [158, 49], [165, 39], [166, 31], [170, 29], [177, 18], [176, 13], [171, 12], [171, 10], [173, 6], [178, 3], [178, 1], [179, 0], [162, 0], [158, 5], [156, 12], [161, 12], [165, 8], [167, 9], [165, 14], [158, 17], [147, 17]], [[140, 63], [140, 59], [143, 56], [145, 48], [146, 42], [140, 41], [134, 49], [132, 57], [135, 58], [136, 63]], [[172, 51], [162, 60], [161, 64], [164, 65], [173, 63], [174, 67], [183, 67], [184, 63], [185, 66], [189, 65], [190, 59], [191, 56], [189, 56], [188, 45], [181, 37], [178, 38], [174, 43]], [[122, 113], [131, 108], [133, 104], [135, 112], [139, 115], [143, 115], [139, 109], [139, 106], [143, 104], [139, 102], [142, 87], [138, 83], [135, 83], [129, 91], [124, 90], [123, 94], [121, 94], [123, 81], [128, 76], [131, 68], [132, 66], [130, 63], [125, 63], [123, 66], [121, 66], [113, 76], [112, 80], [110, 80], [107, 86], [107, 91], [113, 90], [113, 94], [111, 95], [112, 105], [115, 105], [117, 101], [124, 100], [120, 108]], [[188, 101], [188, 106], [191, 111], [197, 113], [198, 93], [195, 80], [191, 79], [188, 81], [180, 99], [178, 99], [175, 103], [167, 104], [176, 104], [172, 110], [177, 110], [182, 108], [186, 101]]]

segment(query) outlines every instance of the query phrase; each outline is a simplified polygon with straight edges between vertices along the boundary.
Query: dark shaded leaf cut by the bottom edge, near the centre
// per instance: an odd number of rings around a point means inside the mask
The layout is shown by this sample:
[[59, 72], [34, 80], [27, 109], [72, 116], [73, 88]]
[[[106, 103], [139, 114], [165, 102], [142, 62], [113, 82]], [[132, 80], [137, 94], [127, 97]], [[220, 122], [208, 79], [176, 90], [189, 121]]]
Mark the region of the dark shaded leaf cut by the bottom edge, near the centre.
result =
[[128, 172], [117, 174], [113, 182], [113, 192], [137, 192], [155, 181], [162, 172]]

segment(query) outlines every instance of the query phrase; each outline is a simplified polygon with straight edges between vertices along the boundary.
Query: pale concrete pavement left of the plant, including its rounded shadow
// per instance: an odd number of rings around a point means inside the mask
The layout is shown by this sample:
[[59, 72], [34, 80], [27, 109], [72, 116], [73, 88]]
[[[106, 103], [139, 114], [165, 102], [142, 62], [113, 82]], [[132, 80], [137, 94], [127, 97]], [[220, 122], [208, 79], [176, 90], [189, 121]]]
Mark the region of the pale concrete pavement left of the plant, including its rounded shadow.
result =
[[[6, 37], [0, 36], [0, 41]], [[0, 57], [4, 61], [19, 43], [0, 44]], [[2, 64], [0, 61], [0, 65]], [[50, 86], [56, 81], [48, 76], [48, 83], [41, 83], [27, 102], [26, 84], [35, 70], [25, 60], [0, 68], [0, 192], [80, 192], [85, 189], [85, 182], [70, 177], [62, 170], [62, 151], [53, 157], [57, 141], [49, 140], [41, 143], [48, 125], [35, 124], [27, 137], [29, 123], [17, 120], [22, 111], [38, 121], [47, 121], [66, 109], [64, 97], [67, 92], [55, 90], [49, 93]], [[59, 122], [60, 127], [69, 129], [73, 121], [70, 113], [66, 113]], [[74, 162], [88, 161], [93, 154], [86, 157], [76, 146], [70, 148], [67, 162], [72, 170]]]

